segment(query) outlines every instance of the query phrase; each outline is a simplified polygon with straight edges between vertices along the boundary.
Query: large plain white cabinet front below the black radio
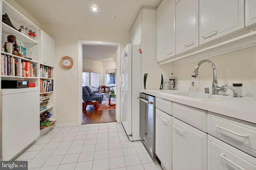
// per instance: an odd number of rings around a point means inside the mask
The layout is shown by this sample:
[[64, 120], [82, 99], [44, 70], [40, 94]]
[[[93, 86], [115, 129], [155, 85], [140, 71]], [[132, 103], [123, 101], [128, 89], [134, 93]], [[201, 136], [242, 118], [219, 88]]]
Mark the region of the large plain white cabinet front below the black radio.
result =
[[2, 90], [2, 160], [15, 158], [39, 137], [38, 101], [38, 88]]

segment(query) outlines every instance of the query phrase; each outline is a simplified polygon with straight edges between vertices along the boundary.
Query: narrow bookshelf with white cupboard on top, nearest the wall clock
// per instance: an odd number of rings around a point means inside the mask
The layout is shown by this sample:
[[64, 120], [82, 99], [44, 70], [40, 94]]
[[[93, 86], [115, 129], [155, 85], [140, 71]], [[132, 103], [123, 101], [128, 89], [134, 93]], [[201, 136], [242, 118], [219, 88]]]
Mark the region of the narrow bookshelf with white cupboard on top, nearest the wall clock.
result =
[[[40, 29], [40, 136], [54, 127], [55, 40]], [[44, 99], [46, 101], [44, 101]]]

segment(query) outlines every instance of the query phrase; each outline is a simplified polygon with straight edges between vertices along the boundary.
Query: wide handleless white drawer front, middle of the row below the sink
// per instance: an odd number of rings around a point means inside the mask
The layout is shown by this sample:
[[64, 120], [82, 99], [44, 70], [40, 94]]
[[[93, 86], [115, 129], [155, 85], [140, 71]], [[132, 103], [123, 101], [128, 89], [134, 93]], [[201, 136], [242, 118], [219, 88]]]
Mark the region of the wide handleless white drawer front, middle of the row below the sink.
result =
[[207, 112], [195, 107], [172, 103], [172, 115], [191, 126], [207, 132]]

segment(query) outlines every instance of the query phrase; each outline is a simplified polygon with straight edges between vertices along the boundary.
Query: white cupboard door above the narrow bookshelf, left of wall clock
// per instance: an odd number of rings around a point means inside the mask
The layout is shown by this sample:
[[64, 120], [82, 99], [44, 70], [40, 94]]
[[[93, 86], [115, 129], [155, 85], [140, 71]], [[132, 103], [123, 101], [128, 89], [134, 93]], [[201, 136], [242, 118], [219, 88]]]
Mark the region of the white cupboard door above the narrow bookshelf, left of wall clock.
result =
[[40, 29], [40, 64], [54, 67], [55, 40]]

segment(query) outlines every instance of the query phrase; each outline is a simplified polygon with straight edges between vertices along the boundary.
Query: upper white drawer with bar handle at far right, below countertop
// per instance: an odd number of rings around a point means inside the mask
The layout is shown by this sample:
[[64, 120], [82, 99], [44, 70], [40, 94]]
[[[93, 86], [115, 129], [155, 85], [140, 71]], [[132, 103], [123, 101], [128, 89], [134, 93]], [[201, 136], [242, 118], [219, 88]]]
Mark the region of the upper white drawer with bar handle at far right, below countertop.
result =
[[256, 124], [208, 111], [208, 134], [256, 157]]

